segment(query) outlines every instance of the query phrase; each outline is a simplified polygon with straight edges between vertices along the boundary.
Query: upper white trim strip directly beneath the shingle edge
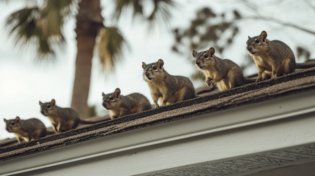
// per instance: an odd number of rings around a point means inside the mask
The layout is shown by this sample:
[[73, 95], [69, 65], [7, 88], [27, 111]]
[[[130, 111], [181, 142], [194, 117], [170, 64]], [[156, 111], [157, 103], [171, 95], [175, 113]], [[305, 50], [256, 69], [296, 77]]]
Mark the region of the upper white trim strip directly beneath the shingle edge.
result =
[[[314, 98], [315, 91], [308, 91], [18, 157], [0, 162], [0, 175], [23, 173], [154, 144], [162, 144], [164, 142], [306, 114], [315, 111]], [[239, 138], [242, 138], [242, 136], [239, 136]], [[314, 138], [302, 138], [289, 143], [281, 143], [279, 141], [274, 148], [260, 149], [260, 151], [256, 152], [312, 142], [315, 142]], [[237, 148], [238, 146], [235, 147]], [[242, 155], [244, 154], [246, 153], [242, 153]]]

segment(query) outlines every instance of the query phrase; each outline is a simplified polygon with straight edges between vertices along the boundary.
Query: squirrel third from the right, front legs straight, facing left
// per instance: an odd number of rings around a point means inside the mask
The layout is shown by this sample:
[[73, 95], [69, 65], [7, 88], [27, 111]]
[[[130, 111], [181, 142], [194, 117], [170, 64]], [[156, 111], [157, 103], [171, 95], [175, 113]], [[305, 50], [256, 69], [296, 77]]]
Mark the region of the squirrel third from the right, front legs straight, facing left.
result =
[[188, 77], [170, 75], [163, 65], [162, 59], [147, 65], [142, 62], [143, 79], [149, 85], [155, 108], [159, 107], [158, 100], [164, 106], [197, 97]]

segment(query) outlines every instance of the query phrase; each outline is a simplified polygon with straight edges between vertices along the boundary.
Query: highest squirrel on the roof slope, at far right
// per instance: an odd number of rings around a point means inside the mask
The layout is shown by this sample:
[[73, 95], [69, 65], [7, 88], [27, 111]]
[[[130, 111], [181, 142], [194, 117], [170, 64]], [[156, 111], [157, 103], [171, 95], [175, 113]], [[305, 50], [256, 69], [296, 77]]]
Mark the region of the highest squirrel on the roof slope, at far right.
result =
[[256, 82], [276, 78], [303, 68], [315, 67], [315, 63], [295, 63], [291, 48], [280, 40], [266, 39], [266, 31], [259, 36], [249, 37], [246, 50], [255, 61], [258, 78]]

